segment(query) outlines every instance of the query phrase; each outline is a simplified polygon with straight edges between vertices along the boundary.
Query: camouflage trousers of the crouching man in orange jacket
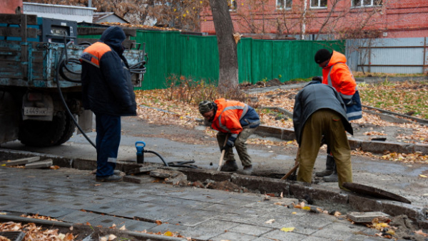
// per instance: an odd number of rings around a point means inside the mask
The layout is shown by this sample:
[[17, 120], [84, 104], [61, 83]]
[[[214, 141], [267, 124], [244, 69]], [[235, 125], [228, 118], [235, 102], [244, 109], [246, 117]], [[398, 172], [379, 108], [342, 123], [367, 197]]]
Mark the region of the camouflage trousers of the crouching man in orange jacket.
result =
[[[247, 151], [247, 140], [251, 134], [255, 132], [256, 128], [245, 128], [243, 131], [238, 134], [238, 138], [235, 140], [235, 149], [238, 152], [239, 159], [243, 166], [251, 165], [251, 157], [248, 155]], [[228, 133], [218, 132], [217, 133], [217, 141], [218, 146], [221, 148], [225, 144], [225, 139]], [[225, 161], [235, 161], [235, 154], [233, 154], [233, 148], [230, 148], [228, 152], [225, 153]]]

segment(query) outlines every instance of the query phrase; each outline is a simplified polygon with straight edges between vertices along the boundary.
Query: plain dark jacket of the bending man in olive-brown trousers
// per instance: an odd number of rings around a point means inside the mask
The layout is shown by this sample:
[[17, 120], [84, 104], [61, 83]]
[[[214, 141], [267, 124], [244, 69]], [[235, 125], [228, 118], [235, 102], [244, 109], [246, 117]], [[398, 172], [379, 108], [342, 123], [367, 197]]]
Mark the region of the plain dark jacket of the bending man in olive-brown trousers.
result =
[[347, 120], [345, 103], [333, 87], [322, 85], [320, 82], [312, 80], [297, 93], [295, 99], [292, 122], [299, 145], [302, 141], [302, 129], [305, 127], [307, 119], [318, 109], [332, 109], [342, 115], [342, 123], [345, 130], [350, 134], [354, 134], [351, 124]]

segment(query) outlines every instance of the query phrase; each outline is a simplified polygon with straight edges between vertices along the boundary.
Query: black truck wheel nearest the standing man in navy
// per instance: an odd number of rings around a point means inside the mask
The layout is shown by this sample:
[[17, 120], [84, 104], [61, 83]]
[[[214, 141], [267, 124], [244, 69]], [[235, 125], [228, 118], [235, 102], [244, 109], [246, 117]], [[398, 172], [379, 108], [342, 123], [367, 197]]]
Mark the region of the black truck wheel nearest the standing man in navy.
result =
[[54, 146], [66, 129], [66, 115], [58, 112], [51, 122], [25, 120], [19, 128], [19, 140], [27, 146]]

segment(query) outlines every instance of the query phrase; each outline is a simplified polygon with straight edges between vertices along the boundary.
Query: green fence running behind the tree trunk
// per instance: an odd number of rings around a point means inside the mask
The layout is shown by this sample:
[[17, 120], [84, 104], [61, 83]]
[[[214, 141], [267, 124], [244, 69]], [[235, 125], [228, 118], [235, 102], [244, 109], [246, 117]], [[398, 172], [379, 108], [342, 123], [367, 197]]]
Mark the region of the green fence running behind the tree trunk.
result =
[[[85, 36], [85, 38], [89, 38]], [[99, 36], [91, 36], [99, 38]], [[165, 87], [171, 75], [218, 80], [218, 48], [215, 36], [189, 36], [175, 31], [137, 30], [137, 43], [146, 43], [147, 70], [142, 87]], [[345, 41], [267, 41], [243, 38], [238, 43], [239, 81], [255, 83], [279, 78], [281, 82], [321, 75], [314, 61], [320, 48], [345, 53]]]

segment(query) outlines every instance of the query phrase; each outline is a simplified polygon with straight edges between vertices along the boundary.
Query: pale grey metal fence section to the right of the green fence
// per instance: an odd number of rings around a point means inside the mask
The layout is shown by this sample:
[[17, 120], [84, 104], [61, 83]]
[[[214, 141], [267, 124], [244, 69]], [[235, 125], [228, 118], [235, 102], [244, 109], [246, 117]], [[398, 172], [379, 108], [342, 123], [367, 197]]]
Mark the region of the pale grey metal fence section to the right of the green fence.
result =
[[424, 73], [428, 70], [426, 38], [352, 39], [346, 43], [353, 71], [367, 73]]

